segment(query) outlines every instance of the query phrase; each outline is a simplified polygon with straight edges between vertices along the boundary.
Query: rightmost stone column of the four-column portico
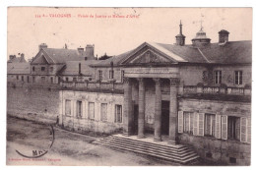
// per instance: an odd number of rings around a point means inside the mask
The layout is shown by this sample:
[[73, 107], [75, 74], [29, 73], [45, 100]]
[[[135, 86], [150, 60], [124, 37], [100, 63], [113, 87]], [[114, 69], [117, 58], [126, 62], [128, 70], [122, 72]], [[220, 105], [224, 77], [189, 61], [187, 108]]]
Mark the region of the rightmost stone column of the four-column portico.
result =
[[177, 85], [179, 80], [176, 78], [169, 79], [169, 143], [175, 144], [177, 142]]

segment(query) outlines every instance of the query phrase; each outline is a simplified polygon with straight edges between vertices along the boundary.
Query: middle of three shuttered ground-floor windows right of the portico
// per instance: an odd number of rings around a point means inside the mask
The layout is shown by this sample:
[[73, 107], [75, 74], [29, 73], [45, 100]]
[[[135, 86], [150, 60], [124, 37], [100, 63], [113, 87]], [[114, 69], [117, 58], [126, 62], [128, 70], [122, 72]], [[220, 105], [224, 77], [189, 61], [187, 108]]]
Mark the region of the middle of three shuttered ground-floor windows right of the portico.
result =
[[216, 115], [205, 114], [205, 136], [215, 137]]

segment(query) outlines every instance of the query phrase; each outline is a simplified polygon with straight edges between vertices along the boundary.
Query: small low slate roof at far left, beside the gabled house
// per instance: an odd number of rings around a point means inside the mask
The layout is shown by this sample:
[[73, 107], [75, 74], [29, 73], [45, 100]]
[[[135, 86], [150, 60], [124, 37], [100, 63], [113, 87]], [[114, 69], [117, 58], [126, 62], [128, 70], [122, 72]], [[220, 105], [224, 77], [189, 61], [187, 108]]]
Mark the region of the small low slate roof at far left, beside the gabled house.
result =
[[30, 63], [8, 63], [7, 74], [28, 75], [31, 74]]

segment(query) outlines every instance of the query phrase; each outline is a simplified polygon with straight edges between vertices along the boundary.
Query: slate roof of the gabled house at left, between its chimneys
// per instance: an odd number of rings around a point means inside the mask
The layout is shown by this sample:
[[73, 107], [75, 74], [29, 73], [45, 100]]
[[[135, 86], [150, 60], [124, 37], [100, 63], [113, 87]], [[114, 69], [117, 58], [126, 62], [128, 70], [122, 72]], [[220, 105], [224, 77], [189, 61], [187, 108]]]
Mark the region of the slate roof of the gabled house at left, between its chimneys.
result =
[[[76, 49], [42, 48], [41, 50], [46, 54], [44, 57], [49, 64], [65, 64], [67, 61], [83, 61], [86, 56], [85, 51], [80, 54]], [[36, 57], [32, 63], [36, 63], [35, 59]]]

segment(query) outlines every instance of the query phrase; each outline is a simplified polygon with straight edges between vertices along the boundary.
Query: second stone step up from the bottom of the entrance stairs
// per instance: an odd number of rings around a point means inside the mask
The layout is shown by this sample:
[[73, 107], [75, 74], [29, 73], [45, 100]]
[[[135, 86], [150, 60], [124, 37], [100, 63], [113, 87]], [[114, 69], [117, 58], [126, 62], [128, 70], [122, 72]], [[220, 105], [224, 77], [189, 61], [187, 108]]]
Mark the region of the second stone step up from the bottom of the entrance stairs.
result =
[[157, 154], [157, 155], [161, 155], [161, 156], [165, 156], [165, 157], [169, 157], [169, 158], [175, 158], [175, 159], [180, 159], [180, 160], [186, 160], [190, 157], [196, 156], [196, 153], [190, 153], [190, 154], [186, 154], [186, 155], [179, 155], [179, 154], [173, 154], [173, 153], [168, 153], [168, 152], [160, 152], [158, 150], [158, 148], [143, 148], [143, 147], [138, 147], [136, 144], [135, 145], [131, 145], [131, 144], [125, 144], [125, 143], [118, 143], [118, 142], [101, 142], [102, 144], [108, 144], [108, 145], [112, 145], [114, 146], [121, 146], [123, 148], [130, 148], [130, 149], [134, 149], [134, 151], [136, 150], [140, 150], [140, 151], [144, 151], [145, 153], [153, 153], [153, 154]]

